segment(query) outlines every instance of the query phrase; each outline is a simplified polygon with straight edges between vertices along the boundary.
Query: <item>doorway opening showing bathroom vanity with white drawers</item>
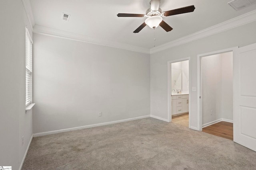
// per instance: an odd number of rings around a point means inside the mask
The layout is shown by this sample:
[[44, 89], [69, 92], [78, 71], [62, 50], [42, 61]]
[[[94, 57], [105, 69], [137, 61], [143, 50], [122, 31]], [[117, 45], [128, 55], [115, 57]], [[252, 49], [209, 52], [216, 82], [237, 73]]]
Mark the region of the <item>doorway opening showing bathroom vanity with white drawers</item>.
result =
[[190, 128], [190, 57], [168, 62], [168, 118]]

